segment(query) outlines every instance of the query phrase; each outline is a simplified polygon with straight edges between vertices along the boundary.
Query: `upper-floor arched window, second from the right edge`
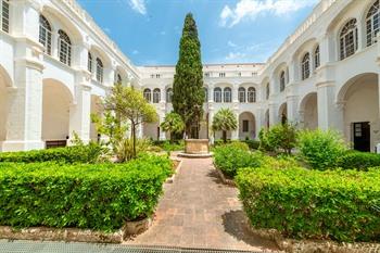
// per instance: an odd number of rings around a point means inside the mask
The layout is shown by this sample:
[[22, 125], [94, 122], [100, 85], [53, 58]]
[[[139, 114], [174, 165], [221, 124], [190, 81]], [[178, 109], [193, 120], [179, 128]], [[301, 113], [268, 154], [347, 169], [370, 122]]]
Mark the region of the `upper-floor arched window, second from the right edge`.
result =
[[344, 26], [340, 34], [341, 60], [353, 55], [357, 50], [357, 26], [356, 18], [352, 18]]

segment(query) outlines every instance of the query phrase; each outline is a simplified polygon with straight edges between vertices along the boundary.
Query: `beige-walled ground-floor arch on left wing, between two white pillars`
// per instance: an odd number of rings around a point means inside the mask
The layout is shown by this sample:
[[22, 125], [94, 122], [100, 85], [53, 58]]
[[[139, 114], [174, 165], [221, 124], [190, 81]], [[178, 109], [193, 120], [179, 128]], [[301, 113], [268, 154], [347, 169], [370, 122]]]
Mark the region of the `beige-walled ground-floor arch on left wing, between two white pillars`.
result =
[[47, 148], [64, 146], [71, 135], [69, 111], [73, 94], [64, 84], [54, 79], [45, 79], [42, 87], [41, 139]]

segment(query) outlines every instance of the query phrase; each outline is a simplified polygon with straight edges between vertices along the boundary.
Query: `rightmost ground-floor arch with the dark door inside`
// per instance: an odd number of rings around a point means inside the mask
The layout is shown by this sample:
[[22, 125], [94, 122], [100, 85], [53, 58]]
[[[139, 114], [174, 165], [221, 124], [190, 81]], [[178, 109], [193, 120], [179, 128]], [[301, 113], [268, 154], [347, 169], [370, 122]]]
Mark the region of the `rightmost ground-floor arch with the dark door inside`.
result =
[[380, 142], [378, 84], [378, 74], [362, 74], [344, 84], [338, 94], [344, 137], [355, 150], [375, 151]]

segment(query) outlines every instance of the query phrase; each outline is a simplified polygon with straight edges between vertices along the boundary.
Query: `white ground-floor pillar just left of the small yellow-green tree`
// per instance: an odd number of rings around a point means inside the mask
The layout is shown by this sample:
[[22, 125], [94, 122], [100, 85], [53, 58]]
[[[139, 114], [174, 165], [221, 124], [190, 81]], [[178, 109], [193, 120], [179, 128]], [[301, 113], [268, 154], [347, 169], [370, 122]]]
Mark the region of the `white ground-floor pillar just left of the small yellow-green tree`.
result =
[[69, 109], [69, 138], [76, 132], [85, 142], [90, 140], [91, 87], [80, 84], [75, 87], [75, 102]]

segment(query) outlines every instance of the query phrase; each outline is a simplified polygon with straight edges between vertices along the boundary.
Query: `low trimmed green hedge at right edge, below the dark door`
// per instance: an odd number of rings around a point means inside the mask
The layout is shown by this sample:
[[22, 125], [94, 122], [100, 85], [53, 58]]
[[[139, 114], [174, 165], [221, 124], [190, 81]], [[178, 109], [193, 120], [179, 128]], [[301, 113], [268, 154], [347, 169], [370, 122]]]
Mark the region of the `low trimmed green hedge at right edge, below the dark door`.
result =
[[346, 152], [338, 162], [338, 167], [346, 169], [367, 170], [377, 166], [380, 166], [380, 154], [358, 151]]

